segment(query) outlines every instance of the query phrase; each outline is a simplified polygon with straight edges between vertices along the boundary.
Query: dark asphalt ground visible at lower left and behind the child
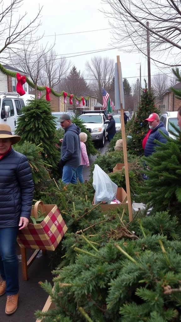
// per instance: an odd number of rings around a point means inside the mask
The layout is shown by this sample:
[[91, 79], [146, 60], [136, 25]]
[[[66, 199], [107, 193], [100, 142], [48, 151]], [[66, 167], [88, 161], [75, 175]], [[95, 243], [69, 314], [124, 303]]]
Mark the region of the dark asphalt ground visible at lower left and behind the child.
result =
[[[105, 141], [104, 147], [97, 146], [96, 149], [102, 154], [105, 153], [106, 147], [109, 142]], [[95, 160], [96, 156], [90, 156], [90, 165]], [[90, 179], [90, 167], [84, 166], [83, 178], [84, 180]], [[32, 256], [33, 249], [27, 249], [27, 260]], [[36, 318], [34, 312], [36, 310], [42, 310], [43, 306], [48, 298], [48, 294], [41, 288], [39, 282], [47, 280], [52, 285], [52, 270], [50, 267], [50, 260], [52, 251], [47, 251], [45, 255], [40, 251], [28, 268], [28, 280], [23, 280], [22, 274], [22, 262], [21, 251], [17, 244], [16, 253], [19, 260], [19, 299], [18, 308], [12, 315], [5, 314], [6, 295], [0, 297], [0, 322], [35, 322]]]

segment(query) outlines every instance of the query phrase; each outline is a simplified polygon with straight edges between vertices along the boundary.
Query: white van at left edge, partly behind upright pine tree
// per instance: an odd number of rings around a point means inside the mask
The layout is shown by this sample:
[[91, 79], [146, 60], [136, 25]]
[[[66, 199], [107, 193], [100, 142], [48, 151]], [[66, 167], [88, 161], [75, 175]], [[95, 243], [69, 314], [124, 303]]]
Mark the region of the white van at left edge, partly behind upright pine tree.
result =
[[20, 96], [16, 93], [0, 92], [0, 124], [8, 124], [14, 135], [18, 116], [22, 114], [22, 107], [28, 104], [27, 99], [34, 97], [31, 94]]

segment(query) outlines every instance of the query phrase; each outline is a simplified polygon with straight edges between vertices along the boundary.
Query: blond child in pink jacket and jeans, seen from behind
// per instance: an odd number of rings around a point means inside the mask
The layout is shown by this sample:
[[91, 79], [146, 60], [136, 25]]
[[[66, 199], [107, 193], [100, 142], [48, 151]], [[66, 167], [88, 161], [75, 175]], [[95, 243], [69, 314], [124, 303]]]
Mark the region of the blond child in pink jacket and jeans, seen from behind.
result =
[[83, 182], [83, 167], [86, 165], [89, 167], [89, 159], [87, 156], [87, 150], [86, 150], [86, 145], [84, 142], [87, 141], [87, 134], [84, 132], [81, 132], [79, 134], [80, 137], [80, 143], [81, 143], [81, 165], [78, 166], [77, 168], [77, 178], [79, 179], [80, 182]]

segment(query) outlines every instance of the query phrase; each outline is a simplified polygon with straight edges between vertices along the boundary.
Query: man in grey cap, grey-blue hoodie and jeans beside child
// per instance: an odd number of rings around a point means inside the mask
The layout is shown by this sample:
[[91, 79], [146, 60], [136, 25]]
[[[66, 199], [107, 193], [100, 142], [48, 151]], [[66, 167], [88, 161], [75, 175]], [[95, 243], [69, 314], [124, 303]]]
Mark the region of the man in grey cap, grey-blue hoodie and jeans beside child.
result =
[[58, 119], [65, 135], [62, 140], [59, 166], [62, 169], [62, 181], [76, 184], [76, 170], [81, 164], [80, 128], [71, 122], [69, 114], [62, 114]]

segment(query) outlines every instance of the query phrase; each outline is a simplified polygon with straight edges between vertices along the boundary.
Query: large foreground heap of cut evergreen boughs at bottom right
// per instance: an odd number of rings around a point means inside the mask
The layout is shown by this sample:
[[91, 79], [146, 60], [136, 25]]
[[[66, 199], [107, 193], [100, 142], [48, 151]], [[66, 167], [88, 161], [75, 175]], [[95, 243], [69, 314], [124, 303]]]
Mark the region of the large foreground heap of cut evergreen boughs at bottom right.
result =
[[[97, 242], [93, 235], [69, 239], [67, 252], [74, 251], [76, 261], [54, 272], [54, 290], [48, 282], [41, 284], [56, 308], [37, 311], [36, 317], [44, 322], [179, 322], [180, 225], [165, 212], [131, 227], [139, 238], [117, 240], [115, 234], [102, 243], [97, 234]], [[175, 229], [177, 240], [171, 238]]]

